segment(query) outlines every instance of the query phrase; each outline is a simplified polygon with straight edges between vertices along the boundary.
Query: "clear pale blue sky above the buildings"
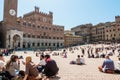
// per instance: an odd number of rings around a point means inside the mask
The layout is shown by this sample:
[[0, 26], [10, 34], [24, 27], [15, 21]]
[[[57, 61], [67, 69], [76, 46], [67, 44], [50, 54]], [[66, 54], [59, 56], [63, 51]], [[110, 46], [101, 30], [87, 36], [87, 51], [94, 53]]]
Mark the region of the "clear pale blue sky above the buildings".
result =
[[[0, 21], [3, 19], [4, 0], [0, 0]], [[77, 25], [112, 22], [120, 15], [120, 0], [18, 0], [18, 16], [40, 7], [42, 12], [53, 12], [54, 24], [65, 30]]]

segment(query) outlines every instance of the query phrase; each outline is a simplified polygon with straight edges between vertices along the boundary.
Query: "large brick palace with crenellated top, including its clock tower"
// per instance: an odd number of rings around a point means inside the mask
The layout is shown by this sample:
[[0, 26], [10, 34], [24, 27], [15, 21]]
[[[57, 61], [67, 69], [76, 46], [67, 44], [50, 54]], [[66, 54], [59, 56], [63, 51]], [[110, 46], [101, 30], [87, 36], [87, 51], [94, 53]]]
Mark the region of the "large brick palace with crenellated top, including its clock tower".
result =
[[53, 13], [35, 10], [17, 17], [18, 0], [4, 0], [0, 23], [1, 47], [60, 48], [64, 46], [64, 26], [53, 24]]

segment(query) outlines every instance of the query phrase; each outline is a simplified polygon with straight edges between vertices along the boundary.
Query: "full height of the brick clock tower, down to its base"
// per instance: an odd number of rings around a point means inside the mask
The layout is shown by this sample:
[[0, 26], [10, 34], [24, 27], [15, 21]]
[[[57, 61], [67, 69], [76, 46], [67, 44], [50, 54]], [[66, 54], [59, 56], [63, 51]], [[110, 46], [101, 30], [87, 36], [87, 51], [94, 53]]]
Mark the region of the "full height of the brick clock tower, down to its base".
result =
[[14, 43], [12, 31], [15, 33], [17, 27], [17, 5], [18, 0], [4, 0], [3, 21], [0, 27], [3, 48], [11, 48]]

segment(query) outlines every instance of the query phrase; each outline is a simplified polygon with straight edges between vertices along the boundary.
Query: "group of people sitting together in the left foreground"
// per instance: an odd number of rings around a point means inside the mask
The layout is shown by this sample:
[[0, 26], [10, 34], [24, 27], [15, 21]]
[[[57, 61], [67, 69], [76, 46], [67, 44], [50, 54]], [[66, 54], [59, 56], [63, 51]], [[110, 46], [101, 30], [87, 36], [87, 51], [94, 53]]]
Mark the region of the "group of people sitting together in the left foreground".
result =
[[51, 59], [48, 54], [37, 56], [40, 57], [39, 64], [35, 64], [32, 57], [27, 56], [26, 61], [22, 61], [25, 71], [20, 70], [21, 63], [19, 59], [23, 58], [11, 54], [10, 59], [5, 62], [3, 55], [3, 53], [0, 53], [0, 79], [2, 80], [43, 80], [42, 75], [50, 78], [56, 76], [59, 71], [56, 61]]

